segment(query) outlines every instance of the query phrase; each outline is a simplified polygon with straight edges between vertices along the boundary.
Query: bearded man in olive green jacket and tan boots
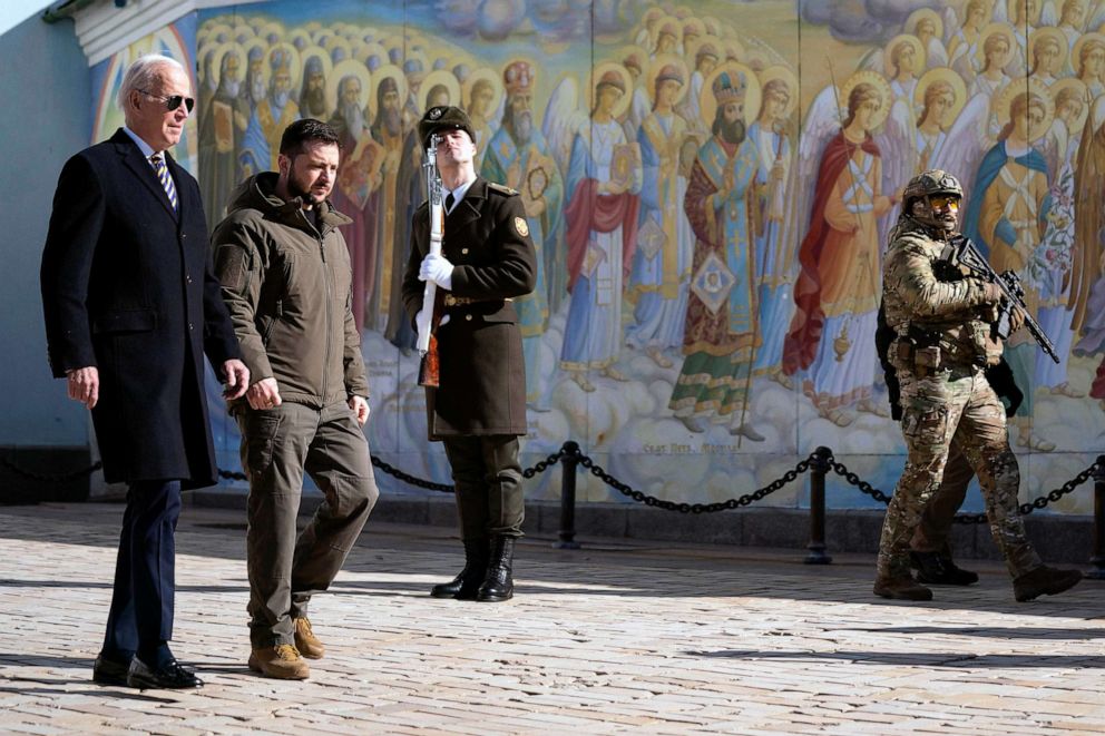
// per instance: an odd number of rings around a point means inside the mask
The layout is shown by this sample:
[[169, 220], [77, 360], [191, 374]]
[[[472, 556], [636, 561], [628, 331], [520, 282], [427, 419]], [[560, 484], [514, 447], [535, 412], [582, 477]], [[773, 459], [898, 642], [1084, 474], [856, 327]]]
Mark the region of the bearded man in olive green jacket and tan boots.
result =
[[[353, 322], [351, 268], [326, 199], [338, 173], [333, 128], [284, 131], [280, 173], [246, 179], [212, 236], [216, 272], [254, 383], [231, 411], [250, 478], [246, 560], [250, 667], [304, 679], [324, 647], [307, 601], [325, 590], [375, 503], [369, 386]], [[296, 539], [304, 470], [325, 494]]]

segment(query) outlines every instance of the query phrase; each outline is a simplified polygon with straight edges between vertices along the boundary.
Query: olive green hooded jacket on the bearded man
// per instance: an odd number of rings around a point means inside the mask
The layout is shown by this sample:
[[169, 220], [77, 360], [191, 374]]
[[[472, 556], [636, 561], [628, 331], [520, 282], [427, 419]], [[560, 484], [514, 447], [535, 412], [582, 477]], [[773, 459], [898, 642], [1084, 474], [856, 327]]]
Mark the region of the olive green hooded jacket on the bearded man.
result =
[[275, 195], [277, 175], [242, 183], [212, 235], [243, 360], [254, 383], [276, 379], [281, 399], [312, 406], [368, 398], [353, 321], [352, 271], [329, 202], [320, 217]]

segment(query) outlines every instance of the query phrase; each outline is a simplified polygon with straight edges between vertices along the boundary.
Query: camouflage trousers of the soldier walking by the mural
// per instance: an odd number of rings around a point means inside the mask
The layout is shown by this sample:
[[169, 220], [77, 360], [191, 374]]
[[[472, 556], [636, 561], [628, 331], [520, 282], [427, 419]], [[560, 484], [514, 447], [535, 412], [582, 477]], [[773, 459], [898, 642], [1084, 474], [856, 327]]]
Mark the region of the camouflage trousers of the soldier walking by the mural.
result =
[[943, 479], [951, 443], [978, 475], [990, 533], [1018, 577], [1040, 567], [1025, 536], [1017, 502], [1020, 469], [1009, 448], [1005, 405], [980, 370], [939, 371], [920, 377], [899, 371], [906, 470], [887, 509], [879, 543], [880, 577], [909, 575], [909, 542]]

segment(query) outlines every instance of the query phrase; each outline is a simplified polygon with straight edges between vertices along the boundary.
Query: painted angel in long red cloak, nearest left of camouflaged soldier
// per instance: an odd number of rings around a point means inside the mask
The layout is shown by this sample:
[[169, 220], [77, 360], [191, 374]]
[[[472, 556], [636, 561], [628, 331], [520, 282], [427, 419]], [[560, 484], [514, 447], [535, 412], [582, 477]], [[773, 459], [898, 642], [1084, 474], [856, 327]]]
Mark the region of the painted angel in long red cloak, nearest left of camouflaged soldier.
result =
[[[889, 415], [872, 392], [881, 288], [878, 218], [893, 200], [882, 192], [882, 155], [871, 130], [886, 119], [892, 94], [882, 76], [859, 71], [841, 97], [848, 101], [843, 120], [833, 126], [839, 111], [823, 105], [819, 112], [830, 120], [806, 124], [808, 131], [835, 127], [835, 135], [820, 154], [783, 370], [789, 375], [803, 371], [803, 391], [821, 416], [847, 426], [854, 420], [848, 413], [853, 406]], [[816, 107], [815, 101], [811, 112]]]

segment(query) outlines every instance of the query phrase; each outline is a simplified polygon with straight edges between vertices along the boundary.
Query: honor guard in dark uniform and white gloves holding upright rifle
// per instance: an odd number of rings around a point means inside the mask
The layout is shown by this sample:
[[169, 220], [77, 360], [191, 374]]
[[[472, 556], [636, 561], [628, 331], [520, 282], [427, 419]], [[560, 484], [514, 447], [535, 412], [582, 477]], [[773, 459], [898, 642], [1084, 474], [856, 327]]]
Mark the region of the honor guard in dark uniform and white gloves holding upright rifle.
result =
[[402, 295], [417, 324], [423, 282], [437, 285], [439, 379], [426, 389], [427, 429], [452, 468], [465, 568], [430, 595], [501, 601], [514, 595], [511, 560], [525, 516], [518, 436], [527, 431], [526, 366], [512, 300], [534, 290], [537, 261], [521, 197], [476, 175], [463, 110], [427, 110], [423, 146], [431, 136], [444, 209], [441, 254], [430, 254], [427, 203], [413, 216]]

